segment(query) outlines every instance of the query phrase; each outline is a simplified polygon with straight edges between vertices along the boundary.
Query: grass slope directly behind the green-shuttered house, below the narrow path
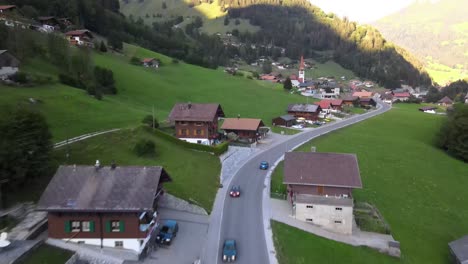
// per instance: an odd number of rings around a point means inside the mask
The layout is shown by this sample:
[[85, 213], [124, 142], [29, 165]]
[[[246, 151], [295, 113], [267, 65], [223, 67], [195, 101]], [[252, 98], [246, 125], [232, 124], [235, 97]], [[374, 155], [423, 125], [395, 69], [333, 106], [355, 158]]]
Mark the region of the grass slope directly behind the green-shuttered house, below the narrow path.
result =
[[[154, 157], [139, 157], [133, 148], [140, 139], [149, 139], [156, 145]], [[164, 185], [171, 194], [186, 201], [195, 201], [208, 212], [213, 206], [219, 186], [221, 164], [217, 156], [175, 145], [146, 131], [144, 128], [126, 129], [108, 133], [54, 151], [58, 164], [93, 165], [99, 160], [109, 166], [114, 160], [119, 165], [163, 166], [172, 177]]]

